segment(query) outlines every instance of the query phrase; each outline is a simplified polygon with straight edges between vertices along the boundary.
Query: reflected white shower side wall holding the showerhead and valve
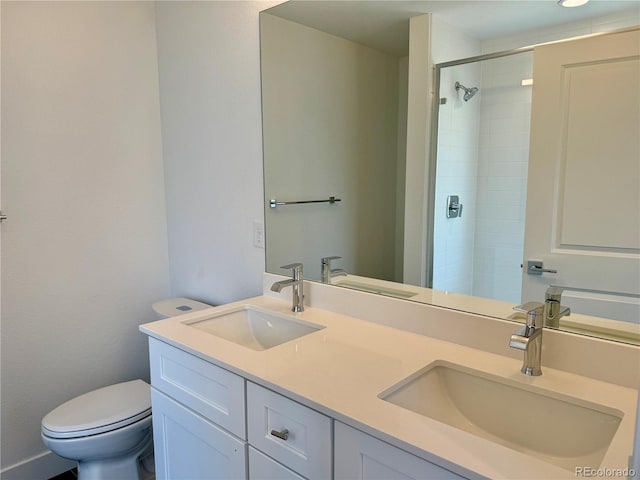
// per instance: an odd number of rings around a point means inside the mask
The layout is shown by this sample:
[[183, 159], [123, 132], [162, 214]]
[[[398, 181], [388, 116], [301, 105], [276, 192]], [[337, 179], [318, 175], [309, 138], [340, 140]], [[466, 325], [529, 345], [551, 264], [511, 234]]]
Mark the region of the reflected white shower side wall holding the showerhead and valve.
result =
[[[431, 52], [435, 63], [472, 57], [480, 44], [456, 27], [433, 16]], [[478, 175], [478, 132], [482, 92], [463, 100], [463, 90], [455, 83], [471, 88], [480, 86], [478, 64], [441, 69], [438, 116], [438, 162], [436, 168], [433, 288], [472, 294], [476, 186]], [[447, 197], [458, 195], [462, 216], [447, 218]]]

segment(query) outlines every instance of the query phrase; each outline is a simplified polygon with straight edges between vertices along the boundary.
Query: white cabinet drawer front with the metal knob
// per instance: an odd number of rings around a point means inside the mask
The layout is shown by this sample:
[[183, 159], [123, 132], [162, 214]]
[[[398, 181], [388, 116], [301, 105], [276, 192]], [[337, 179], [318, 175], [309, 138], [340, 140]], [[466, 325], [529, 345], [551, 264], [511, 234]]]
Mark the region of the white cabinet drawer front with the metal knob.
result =
[[[310, 479], [331, 478], [331, 419], [247, 382], [249, 443]], [[287, 431], [285, 438], [274, 435]]]

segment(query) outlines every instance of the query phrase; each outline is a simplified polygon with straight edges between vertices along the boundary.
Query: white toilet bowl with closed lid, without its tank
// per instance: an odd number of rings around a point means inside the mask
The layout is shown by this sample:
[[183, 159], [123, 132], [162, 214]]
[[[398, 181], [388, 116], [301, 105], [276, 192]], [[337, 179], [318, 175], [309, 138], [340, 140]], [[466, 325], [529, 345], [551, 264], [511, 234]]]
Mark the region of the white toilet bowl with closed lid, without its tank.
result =
[[63, 403], [43, 418], [42, 441], [78, 462], [80, 480], [153, 478], [149, 384], [118, 383]]

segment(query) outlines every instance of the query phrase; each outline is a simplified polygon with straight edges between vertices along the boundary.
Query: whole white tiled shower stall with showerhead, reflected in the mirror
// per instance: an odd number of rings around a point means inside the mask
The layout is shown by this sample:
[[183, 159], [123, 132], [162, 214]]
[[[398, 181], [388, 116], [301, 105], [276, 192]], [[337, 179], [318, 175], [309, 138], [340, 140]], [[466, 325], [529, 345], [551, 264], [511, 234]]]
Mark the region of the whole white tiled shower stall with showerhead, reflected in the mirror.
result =
[[431, 286], [520, 301], [533, 52], [436, 66]]

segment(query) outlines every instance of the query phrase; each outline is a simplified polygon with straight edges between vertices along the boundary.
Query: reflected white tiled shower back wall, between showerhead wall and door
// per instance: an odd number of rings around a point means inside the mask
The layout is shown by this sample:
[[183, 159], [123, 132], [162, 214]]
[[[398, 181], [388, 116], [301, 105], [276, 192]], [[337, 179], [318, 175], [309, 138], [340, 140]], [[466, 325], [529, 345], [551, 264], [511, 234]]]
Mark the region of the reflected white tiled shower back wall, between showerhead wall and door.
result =
[[482, 62], [473, 295], [520, 302], [533, 53]]

